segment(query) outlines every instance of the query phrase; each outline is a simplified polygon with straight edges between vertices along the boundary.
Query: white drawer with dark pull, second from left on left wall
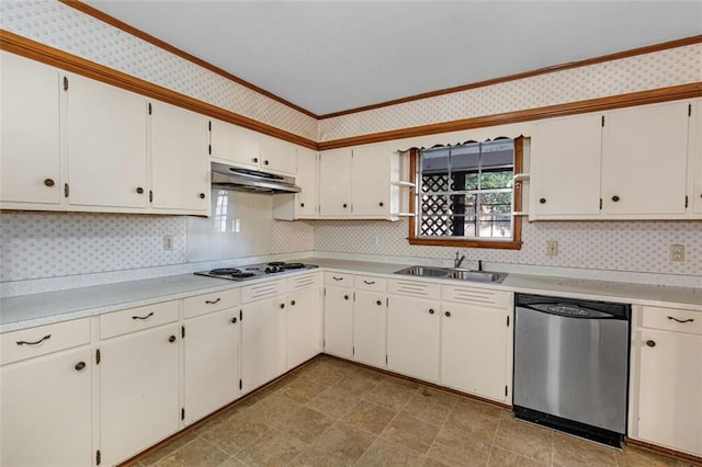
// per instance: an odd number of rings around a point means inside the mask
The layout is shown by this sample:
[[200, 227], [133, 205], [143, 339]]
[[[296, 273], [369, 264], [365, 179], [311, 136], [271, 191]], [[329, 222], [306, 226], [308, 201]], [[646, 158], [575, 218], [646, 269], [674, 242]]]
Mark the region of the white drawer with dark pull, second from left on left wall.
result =
[[100, 316], [100, 339], [114, 338], [178, 320], [178, 300]]

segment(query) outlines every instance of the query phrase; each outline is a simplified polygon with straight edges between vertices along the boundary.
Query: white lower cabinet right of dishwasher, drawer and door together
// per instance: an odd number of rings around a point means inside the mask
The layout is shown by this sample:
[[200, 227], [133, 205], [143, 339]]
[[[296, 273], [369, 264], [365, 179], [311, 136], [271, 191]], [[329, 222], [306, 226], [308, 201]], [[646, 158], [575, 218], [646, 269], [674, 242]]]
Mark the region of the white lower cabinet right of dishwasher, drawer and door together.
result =
[[[634, 307], [630, 436], [702, 456], [702, 318]], [[642, 320], [643, 318], [643, 320]]]

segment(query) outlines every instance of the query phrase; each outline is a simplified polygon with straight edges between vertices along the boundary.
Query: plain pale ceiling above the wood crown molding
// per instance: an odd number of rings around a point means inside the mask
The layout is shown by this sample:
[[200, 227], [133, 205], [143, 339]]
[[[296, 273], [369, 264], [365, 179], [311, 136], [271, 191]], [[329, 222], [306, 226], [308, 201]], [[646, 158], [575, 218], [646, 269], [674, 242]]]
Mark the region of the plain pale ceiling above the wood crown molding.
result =
[[702, 34], [702, 0], [86, 3], [316, 115]]

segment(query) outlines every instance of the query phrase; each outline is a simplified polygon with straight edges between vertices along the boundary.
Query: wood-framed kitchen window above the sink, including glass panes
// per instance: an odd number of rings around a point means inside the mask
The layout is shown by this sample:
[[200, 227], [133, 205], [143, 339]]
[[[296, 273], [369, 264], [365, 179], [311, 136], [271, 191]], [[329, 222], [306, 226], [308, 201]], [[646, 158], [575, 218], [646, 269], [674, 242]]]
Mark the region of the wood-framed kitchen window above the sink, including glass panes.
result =
[[521, 248], [523, 138], [412, 149], [410, 244]]

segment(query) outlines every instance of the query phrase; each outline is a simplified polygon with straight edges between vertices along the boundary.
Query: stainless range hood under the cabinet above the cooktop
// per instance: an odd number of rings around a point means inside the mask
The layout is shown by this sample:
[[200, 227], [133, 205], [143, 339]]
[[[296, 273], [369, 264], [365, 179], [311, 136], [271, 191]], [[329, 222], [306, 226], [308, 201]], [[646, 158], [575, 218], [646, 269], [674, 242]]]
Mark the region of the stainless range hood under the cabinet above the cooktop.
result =
[[264, 194], [299, 193], [302, 191], [292, 176], [241, 169], [219, 162], [212, 162], [212, 186]]

